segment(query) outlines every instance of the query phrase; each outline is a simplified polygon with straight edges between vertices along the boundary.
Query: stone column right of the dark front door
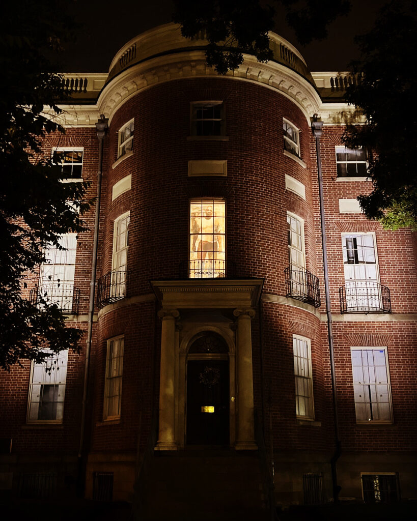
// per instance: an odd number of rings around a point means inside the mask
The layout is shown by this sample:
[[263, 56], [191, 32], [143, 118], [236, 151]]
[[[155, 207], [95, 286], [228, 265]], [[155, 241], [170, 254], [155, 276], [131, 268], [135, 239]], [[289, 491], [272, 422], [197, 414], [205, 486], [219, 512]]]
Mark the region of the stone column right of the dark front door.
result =
[[251, 319], [253, 309], [235, 309], [237, 317], [238, 421], [236, 449], [256, 449], [253, 417]]

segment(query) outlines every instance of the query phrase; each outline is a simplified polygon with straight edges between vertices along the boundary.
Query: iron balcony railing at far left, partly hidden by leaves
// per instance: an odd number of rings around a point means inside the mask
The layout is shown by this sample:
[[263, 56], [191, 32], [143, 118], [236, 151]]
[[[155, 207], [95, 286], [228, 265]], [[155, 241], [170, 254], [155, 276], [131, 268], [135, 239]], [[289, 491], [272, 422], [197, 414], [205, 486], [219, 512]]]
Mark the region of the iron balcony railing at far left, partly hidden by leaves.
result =
[[29, 300], [38, 309], [44, 309], [45, 303], [56, 304], [63, 313], [78, 315], [80, 290], [71, 283], [44, 282], [30, 291]]

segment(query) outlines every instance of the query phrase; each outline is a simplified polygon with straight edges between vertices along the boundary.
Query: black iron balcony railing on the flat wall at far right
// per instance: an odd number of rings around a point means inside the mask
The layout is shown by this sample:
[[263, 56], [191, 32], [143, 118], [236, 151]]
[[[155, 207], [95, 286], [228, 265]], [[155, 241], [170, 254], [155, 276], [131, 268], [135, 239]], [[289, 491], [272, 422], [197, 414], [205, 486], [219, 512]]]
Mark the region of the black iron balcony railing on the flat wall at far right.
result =
[[352, 280], [339, 288], [340, 313], [391, 313], [386, 286], [368, 280]]

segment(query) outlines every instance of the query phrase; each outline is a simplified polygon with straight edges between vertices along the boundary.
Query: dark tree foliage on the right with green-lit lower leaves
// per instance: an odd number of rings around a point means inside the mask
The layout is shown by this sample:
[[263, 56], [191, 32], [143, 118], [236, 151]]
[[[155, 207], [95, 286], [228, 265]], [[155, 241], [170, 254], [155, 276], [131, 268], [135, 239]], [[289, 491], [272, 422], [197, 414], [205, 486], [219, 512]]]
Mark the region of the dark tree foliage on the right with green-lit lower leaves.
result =
[[417, 5], [395, 0], [379, 14], [375, 27], [357, 38], [361, 58], [353, 63], [361, 82], [348, 89], [347, 101], [360, 108], [364, 126], [349, 126], [345, 142], [372, 151], [370, 195], [358, 197], [365, 215], [385, 228], [417, 230]]

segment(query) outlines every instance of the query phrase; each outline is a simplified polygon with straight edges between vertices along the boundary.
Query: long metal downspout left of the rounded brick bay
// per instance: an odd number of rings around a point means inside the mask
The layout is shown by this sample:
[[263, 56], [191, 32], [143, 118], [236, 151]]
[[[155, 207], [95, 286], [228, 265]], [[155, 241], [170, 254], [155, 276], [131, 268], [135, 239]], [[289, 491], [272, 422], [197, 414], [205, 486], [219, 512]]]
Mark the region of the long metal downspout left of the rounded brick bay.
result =
[[100, 119], [95, 123], [97, 130], [97, 138], [99, 139], [99, 168], [97, 170], [97, 194], [95, 201], [95, 218], [94, 218], [94, 239], [93, 239], [93, 257], [91, 266], [90, 279], [90, 305], [88, 312], [88, 330], [87, 330], [87, 346], [85, 348], [85, 366], [84, 366], [84, 387], [82, 393], [82, 408], [81, 408], [81, 425], [80, 425], [80, 445], [78, 450], [78, 491], [83, 493], [83, 449], [84, 449], [84, 433], [85, 433], [85, 416], [87, 414], [87, 395], [89, 384], [90, 371], [90, 353], [91, 341], [93, 337], [93, 316], [94, 316], [94, 297], [95, 297], [95, 277], [97, 273], [97, 249], [99, 245], [99, 222], [100, 222], [100, 202], [101, 202], [101, 181], [103, 169], [103, 142], [108, 129], [108, 119], [104, 114], [100, 115]]

